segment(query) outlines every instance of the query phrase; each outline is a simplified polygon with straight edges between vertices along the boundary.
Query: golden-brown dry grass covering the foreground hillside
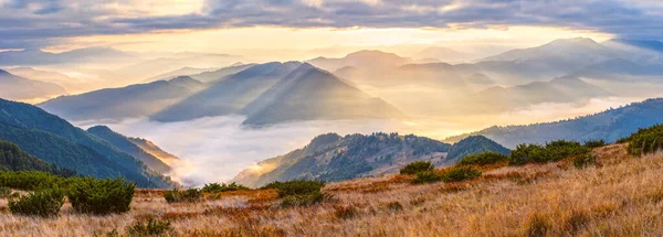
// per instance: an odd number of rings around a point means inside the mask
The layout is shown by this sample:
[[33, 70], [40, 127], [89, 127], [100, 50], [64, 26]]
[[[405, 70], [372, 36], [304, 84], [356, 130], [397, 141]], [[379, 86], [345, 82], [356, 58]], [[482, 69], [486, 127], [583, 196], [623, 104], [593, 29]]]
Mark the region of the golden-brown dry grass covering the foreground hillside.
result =
[[596, 166], [568, 161], [483, 169], [460, 183], [412, 185], [392, 175], [333, 183], [336, 196], [280, 208], [275, 191], [239, 191], [194, 204], [167, 204], [138, 191], [123, 215], [86, 216], [63, 207], [52, 219], [12, 216], [0, 201], [0, 236], [92, 236], [134, 220], [170, 220], [180, 236], [663, 236], [663, 155], [630, 158], [599, 148]]

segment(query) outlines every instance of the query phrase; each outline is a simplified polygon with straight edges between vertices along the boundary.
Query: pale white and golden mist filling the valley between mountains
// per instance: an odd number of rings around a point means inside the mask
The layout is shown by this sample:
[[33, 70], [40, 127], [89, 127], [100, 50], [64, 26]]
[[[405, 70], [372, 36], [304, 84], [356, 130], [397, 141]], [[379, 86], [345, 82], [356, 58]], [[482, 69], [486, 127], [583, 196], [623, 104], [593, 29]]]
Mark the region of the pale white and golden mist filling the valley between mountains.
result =
[[156, 122], [147, 118], [118, 121], [78, 121], [82, 128], [105, 125], [128, 137], [148, 139], [178, 158], [169, 174], [185, 186], [227, 182], [257, 162], [302, 148], [316, 136], [399, 132], [442, 140], [495, 125], [554, 121], [619, 107], [635, 98], [591, 99], [582, 105], [541, 104], [501, 115], [465, 119], [418, 118], [397, 120], [298, 121], [260, 129], [246, 128], [242, 116], [206, 117], [181, 122]]

